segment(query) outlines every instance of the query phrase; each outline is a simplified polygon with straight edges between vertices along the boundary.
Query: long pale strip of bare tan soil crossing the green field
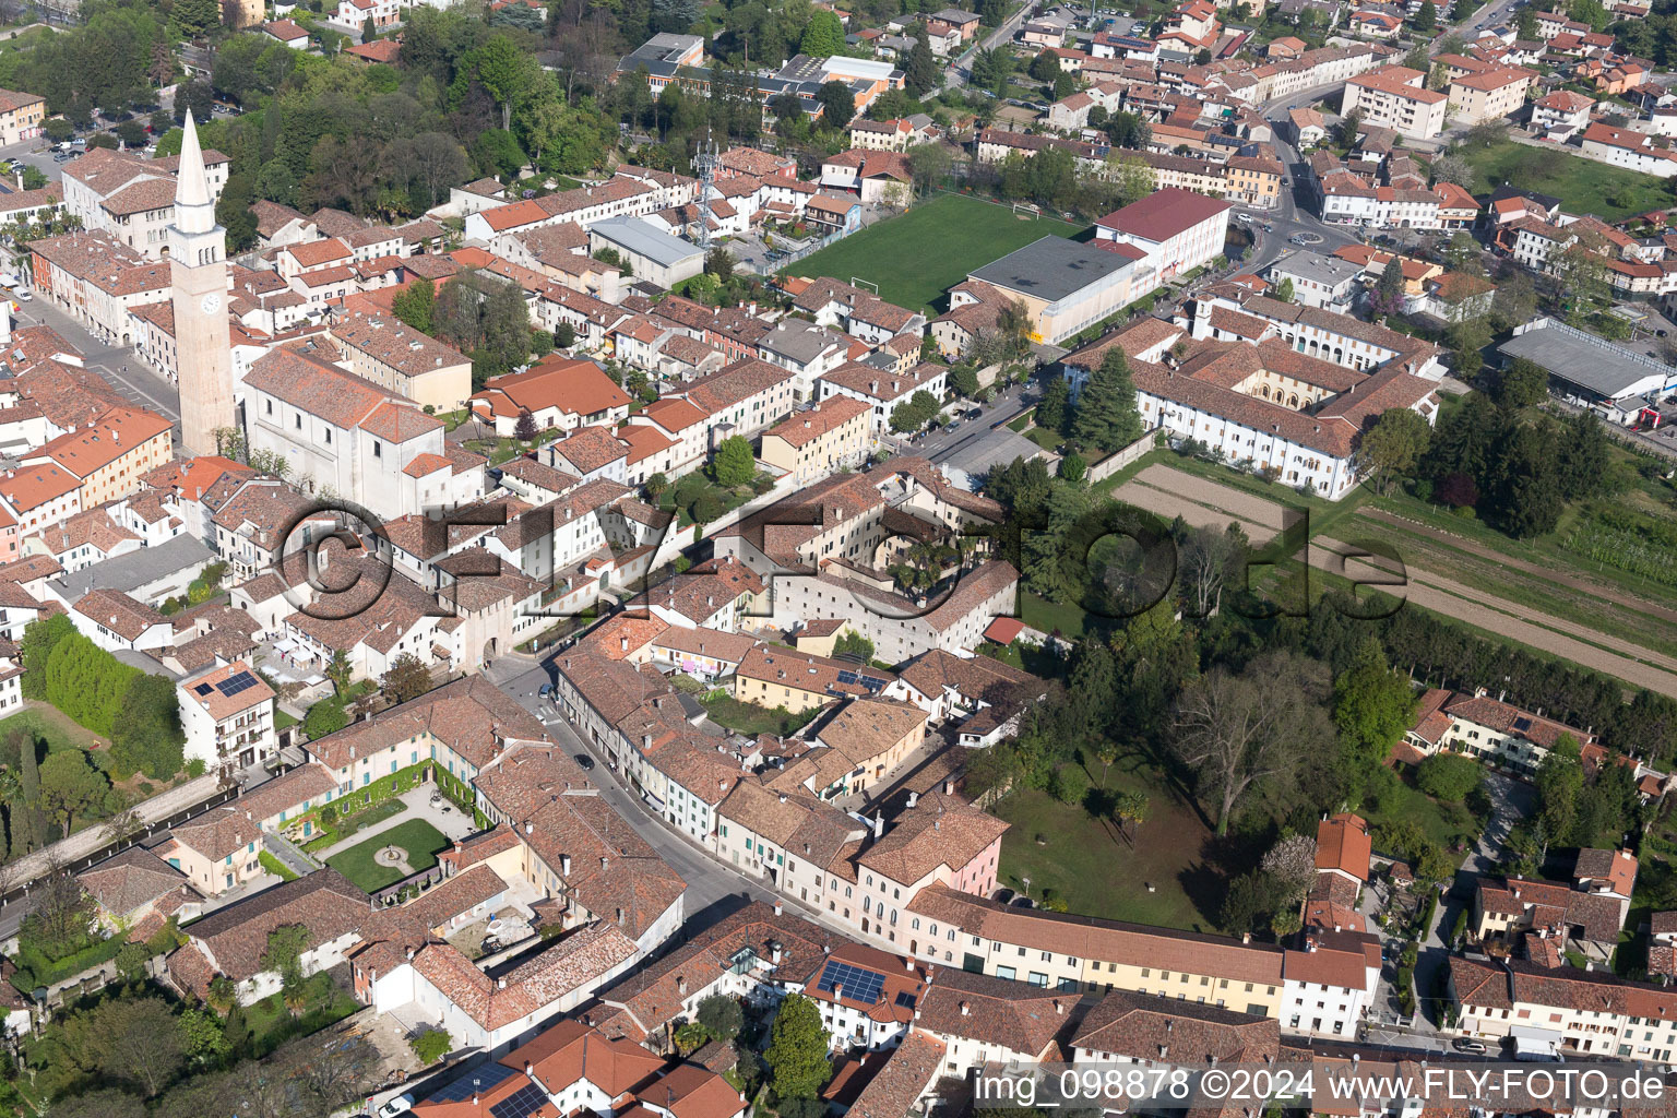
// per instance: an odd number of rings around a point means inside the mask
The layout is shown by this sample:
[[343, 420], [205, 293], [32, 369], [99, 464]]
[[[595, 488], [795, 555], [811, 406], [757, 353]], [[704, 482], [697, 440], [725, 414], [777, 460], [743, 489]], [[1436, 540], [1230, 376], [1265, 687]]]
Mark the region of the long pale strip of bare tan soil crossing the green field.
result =
[[[1253, 543], [1264, 543], [1281, 530], [1283, 510], [1280, 505], [1157, 463], [1119, 486], [1114, 496], [1160, 516], [1181, 515], [1182, 520], [1196, 526], [1226, 525], [1233, 516]], [[1400, 523], [1410, 526], [1407, 521]], [[1451, 543], [1459, 541], [1451, 540]], [[1347, 562], [1343, 558], [1347, 550], [1347, 545], [1337, 540], [1311, 540], [1310, 565], [1370, 582], [1382, 573], [1382, 565], [1367, 560]], [[1548, 575], [1541, 567], [1533, 567], [1533, 570]], [[1637, 687], [1677, 694], [1677, 659], [1674, 657], [1586, 625], [1529, 610], [1429, 570], [1409, 567], [1407, 572], [1409, 587], [1404, 597], [1422, 608], [1583, 667], [1607, 672]]]

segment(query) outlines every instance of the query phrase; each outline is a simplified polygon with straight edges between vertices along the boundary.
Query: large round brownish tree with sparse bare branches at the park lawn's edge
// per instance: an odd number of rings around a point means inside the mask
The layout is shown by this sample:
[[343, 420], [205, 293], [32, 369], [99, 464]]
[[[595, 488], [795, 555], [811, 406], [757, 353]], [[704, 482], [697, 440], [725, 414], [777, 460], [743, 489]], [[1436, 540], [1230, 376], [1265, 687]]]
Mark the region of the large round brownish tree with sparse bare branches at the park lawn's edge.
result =
[[1244, 672], [1218, 667], [1177, 701], [1172, 751], [1194, 769], [1224, 835], [1234, 806], [1261, 781], [1281, 781], [1332, 741], [1321, 665], [1266, 652]]

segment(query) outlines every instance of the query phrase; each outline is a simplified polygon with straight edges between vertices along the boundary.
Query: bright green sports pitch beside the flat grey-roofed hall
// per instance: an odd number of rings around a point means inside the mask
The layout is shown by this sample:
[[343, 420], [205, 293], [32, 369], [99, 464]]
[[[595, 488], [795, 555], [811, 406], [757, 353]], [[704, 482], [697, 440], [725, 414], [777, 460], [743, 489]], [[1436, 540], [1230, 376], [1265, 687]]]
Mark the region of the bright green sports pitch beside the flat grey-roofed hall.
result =
[[929, 308], [966, 275], [1015, 248], [1043, 236], [1073, 236], [1082, 230], [1055, 218], [1023, 218], [966, 194], [942, 194], [852, 233], [781, 275], [852, 277], [879, 283], [879, 297], [911, 310]]

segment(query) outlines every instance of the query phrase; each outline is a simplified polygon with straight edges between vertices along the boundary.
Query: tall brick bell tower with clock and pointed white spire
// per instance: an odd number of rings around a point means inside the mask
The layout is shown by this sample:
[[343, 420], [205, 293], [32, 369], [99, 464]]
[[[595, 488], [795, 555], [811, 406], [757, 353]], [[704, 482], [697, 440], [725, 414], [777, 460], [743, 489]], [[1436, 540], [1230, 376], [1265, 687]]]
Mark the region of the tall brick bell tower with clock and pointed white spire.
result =
[[193, 454], [215, 454], [216, 427], [231, 427], [233, 369], [226, 325], [226, 230], [215, 223], [215, 199], [186, 114], [181, 166], [169, 226], [169, 302], [174, 307], [174, 365], [181, 392], [181, 443]]

